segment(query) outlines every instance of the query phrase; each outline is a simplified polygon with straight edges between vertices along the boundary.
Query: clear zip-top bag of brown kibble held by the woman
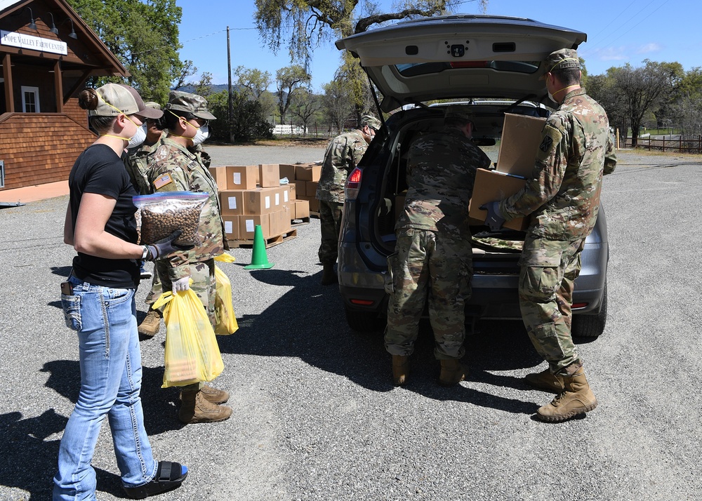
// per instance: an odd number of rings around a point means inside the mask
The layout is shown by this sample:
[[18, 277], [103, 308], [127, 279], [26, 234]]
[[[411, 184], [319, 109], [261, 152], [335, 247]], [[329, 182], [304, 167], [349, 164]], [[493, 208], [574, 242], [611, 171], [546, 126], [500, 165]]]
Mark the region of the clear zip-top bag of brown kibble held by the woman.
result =
[[139, 243], [149, 245], [175, 232], [183, 231], [176, 243], [199, 246], [197, 227], [207, 193], [162, 192], [133, 197]]

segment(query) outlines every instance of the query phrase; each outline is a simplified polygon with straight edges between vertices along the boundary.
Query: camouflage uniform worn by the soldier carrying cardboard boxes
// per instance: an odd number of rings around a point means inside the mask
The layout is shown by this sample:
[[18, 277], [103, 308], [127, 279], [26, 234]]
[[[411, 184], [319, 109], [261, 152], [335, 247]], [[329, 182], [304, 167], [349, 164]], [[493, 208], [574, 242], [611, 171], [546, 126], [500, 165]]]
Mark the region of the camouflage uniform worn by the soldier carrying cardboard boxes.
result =
[[519, 261], [519, 305], [552, 373], [581, 362], [571, 338], [573, 282], [597, 220], [602, 175], [615, 166], [607, 113], [578, 88], [546, 121], [531, 179], [500, 203], [507, 218], [531, 215]]

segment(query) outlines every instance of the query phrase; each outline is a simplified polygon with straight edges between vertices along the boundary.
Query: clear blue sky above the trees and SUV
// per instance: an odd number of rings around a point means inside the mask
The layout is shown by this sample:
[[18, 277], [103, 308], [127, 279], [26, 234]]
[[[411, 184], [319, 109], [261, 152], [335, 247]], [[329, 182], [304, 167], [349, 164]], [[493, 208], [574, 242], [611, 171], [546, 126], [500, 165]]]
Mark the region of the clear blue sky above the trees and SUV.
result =
[[[242, 65], [275, 76], [277, 69], [291, 64], [285, 44], [274, 54], [260, 39], [253, 0], [177, 0], [176, 4], [183, 8], [180, 58], [192, 60], [198, 75], [210, 72], [213, 83], [227, 83], [227, 25], [232, 69]], [[386, 12], [392, 8], [391, 0], [378, 4]], [[464, 1], [456, 12], [474, 14], [478, 8], [477, 1]], [[698, 0], [489, 0], [486, 13], [531, 18], [587, 33], [588, 41], [578, 53], [590, 74], [602, 74], [625, 62], [639, 67], [645, 59], [677, 61], [686, 70], [702, 66]], [[311, 72], [316, 91], [333, 79], [339, 56], [332, 41], [315, 49]]]

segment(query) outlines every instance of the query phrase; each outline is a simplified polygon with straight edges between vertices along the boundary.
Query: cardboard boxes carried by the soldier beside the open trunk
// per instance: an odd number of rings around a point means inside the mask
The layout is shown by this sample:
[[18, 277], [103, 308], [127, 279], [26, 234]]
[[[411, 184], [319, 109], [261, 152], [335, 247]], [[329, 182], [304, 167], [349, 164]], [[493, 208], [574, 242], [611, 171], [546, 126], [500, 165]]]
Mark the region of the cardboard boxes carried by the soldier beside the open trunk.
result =
[[[495, 171], [479, 168], [475, 174], [468, 215], [477, 224], [484, 222], [487, 216], [487, 211], [480, 209], [480, 206], [508, 198], [522, 189], [526, 180], [531, 178], [545, 121], [546, 119], [533, 116], [505, 113], [497, 168]], [[515, 218], [505, 222], [504, 226], [524, 230], [529, 226], [529, 220]]]

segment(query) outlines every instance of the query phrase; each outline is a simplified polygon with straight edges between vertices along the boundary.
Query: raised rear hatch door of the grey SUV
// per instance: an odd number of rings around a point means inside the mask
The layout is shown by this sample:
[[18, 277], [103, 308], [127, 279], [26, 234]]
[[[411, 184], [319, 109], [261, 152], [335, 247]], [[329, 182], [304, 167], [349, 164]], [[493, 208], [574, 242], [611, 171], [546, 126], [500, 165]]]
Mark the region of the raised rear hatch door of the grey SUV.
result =
[[457, 14], [397, 22], [336, 41], [359, 58], [383, 94], [380, 109], [456, 98], [545, 94], [543, 60], [588, 39], [527, 18]]

